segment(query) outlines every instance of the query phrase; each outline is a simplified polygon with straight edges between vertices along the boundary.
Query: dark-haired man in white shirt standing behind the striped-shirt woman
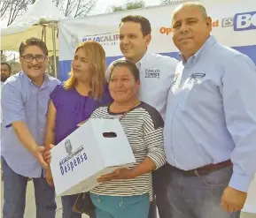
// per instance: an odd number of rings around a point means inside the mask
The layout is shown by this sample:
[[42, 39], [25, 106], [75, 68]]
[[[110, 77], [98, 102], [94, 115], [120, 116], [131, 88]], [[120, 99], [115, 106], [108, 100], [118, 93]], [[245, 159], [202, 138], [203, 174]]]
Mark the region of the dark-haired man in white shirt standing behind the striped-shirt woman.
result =
[[[148, 46], [151, 42], [150, 21], [142, 16], [129, 15], [120, 21], [120, 51], [123, 58], [136, 64], [140, 71], [141, 88], [139, 98], [159, 110], [165, 118], [167, 108], [167, 95], [173, 84], [175, 68], [178, 61], [170, 56], [151, 54]], [[110, 64], [111, 67], [112, 64]], [[110, 69], [109, 67], [109, 69]], [[109, 69], [106, 71], [106, 79], [109, 80]], [[165, 196], [158, 195], [158, 190], [163, 185], [158, 177], [159, 170], [153, 173], [153, 191], [156, 193], [156, 201], [159, 214], [165, 208], [161, 207]], [[156, 218], [155, 202], [151, 204], [149, 218]]]

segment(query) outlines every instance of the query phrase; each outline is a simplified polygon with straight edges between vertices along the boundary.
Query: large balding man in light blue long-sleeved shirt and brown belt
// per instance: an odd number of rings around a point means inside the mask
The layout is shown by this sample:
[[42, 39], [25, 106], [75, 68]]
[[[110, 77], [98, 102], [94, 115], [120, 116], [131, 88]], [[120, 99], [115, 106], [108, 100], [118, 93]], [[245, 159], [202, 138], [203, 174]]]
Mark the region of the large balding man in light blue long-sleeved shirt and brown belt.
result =
[[255, 64], [210, 35], [202, 4], [182, 4], [172, 26], [182, 61], [164, 128], [166, 217], [237, 218], [256, 171]]

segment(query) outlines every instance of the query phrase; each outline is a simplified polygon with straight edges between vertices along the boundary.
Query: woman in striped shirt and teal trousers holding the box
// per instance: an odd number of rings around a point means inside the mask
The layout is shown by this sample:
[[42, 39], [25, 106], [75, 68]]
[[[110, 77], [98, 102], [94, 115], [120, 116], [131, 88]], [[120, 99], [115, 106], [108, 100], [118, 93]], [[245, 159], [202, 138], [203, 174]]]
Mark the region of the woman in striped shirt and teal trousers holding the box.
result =
[[159, 112], [139, 101], [139, 71], [135, 64], [112, 65], [109, 90], [113, 102], [96, 109], [92, 118], [119, 118], [136, 157], [129, 169], [98, 178], [90, 191], [97, 218], [147, 218], [152, 199], [151, 171], [166, 163], [163, 120]]

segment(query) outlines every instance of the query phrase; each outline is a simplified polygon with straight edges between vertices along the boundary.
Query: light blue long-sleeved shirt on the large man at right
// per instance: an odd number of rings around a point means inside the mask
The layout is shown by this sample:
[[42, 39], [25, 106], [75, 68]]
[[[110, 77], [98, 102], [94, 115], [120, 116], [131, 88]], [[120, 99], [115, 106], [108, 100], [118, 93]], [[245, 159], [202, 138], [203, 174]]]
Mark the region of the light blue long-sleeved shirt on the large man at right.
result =
[[167, 162], [184, 170], [229, 159], [229, 186], [247, 192], [256, 172], [256, 67], [211, 36], [180, 62], [167, 101]]

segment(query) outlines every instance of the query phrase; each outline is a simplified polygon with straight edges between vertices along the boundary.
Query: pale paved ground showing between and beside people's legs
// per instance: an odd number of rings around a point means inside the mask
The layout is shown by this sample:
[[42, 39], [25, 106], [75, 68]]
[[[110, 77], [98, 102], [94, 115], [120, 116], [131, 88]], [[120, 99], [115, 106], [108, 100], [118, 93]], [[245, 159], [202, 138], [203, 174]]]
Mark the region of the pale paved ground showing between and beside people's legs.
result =
[[[1, 177], [1, 176], [0, 176]], [[1, 178], [0, 178], [1, 179]], [[1, 179], [2, 180], [2, 179]], [[2, 217], [2, 208], [3, 208], [3, 182], [1, 184], [1, 215]], [[60, 199], [57, 198], [57, 215], [56, 218], [61, 218], [62, 209]], [[28, 182], [27, 184], [27, 207], [24, 218], [35, 218], [35, 196], [34, 196], [34, 186], [33, 182]], [[87, 215], [83, 215], [82, 218], [89, 218]], [[242, 214], [241, 218], [256, 218], [256, 214]]]

